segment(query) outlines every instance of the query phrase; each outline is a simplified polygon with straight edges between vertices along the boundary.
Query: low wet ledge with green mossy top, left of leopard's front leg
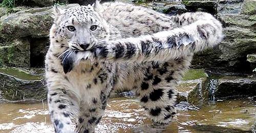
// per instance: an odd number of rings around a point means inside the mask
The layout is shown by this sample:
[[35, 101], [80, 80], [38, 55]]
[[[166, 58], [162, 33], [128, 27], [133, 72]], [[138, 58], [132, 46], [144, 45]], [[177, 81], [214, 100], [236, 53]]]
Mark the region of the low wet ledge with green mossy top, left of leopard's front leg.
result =
[[46, 98], [42, 75], [17, 68], [0, 68], [0, 102], [38, 101]]

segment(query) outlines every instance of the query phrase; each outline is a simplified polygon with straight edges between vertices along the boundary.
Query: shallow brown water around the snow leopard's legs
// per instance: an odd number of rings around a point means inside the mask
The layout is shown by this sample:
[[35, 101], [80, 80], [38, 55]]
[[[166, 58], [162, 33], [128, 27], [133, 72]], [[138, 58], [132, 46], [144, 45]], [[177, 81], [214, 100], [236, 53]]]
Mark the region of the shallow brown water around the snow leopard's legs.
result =
[[[163, 128], [152, 125], [136, 99], [110, 99], [96, 132], [248, 132], [255, 120], [256, 102], [226, 100], [198, 111], [184, 109], [180, 107], [177, 119]], [[53, 131], [46, 104], [0, 104], [0, 132]]]

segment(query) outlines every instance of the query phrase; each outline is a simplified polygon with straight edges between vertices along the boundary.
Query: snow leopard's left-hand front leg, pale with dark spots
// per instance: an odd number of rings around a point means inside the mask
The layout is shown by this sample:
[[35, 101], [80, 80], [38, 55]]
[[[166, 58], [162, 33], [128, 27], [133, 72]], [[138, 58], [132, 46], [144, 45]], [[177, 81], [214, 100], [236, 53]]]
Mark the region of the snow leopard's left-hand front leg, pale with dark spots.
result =
[[[54, 84], [54, 83], [51, 83]], [[48, 87], [48, 106], [55, 132], [71, 133], [77, 104], [65, 88]]]

